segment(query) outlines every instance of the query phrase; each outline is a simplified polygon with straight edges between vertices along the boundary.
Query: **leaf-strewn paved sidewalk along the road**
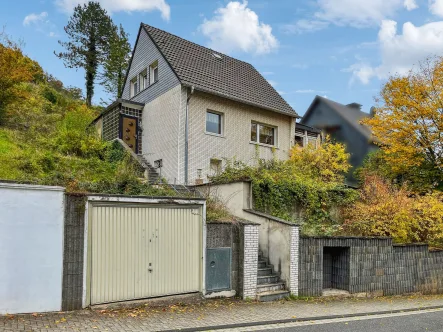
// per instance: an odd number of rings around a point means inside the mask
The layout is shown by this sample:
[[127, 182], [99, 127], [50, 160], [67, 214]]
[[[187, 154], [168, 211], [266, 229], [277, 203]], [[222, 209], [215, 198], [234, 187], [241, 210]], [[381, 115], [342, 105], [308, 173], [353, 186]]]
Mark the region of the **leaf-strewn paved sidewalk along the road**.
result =
[[208, 300], [164, 308], [142, 306], [121, 310], [0, 316], [0, 331], [168, 331], [238, 324], [365, 315], [426, 307], [443, 307], [443, 295], [374, 299], [317, 298], [273, 303]]

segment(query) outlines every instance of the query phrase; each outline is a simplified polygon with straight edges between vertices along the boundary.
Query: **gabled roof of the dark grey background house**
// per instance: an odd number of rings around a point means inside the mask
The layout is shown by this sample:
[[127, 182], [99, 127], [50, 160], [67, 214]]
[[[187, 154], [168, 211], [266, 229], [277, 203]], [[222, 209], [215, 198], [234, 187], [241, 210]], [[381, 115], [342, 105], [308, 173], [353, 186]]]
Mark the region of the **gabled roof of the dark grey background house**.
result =
[[355, 103], [349, 105], [343, 105], [335, 101], [332, 101], [330, 99], [316, 96], [314, 101], [311, 103], [311, 106], [309, 106], [305, 115], [301, 119], [300, 121], [301, 123], [305, 123], [308, 120], [312, 111], [315, 109], [316, 105], [320, 102], [328, 105], [330, 109], [335, 111], [341, 118], [343, 118], [352, 127], [354, 127], [357, 131], [359, 131], [365, 138], [367, 138], [368, 140], [373, 140], [371, 130], [367, 126], [362, 125], [360, 123], [361, 120], [363, 120], [364, 118], [368, 118], [370, 115], [368, 113], [362, 112], [361, 110], [353, 106], [357, 105]]

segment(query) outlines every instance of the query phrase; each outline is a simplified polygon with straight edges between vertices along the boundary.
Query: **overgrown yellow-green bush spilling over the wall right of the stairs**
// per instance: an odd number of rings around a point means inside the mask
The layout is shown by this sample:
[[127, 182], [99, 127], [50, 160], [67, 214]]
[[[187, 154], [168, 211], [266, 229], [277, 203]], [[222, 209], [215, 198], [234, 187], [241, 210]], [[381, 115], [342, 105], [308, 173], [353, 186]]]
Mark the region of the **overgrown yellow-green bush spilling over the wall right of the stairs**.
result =
[[255, 209], [286, 220], [303, 222], [304, 234], [333, 234], [338, 209], [357, 193], [344, 186], [349, 168], [344, 146], [326, 142], [315, 150], [294, 148], [287, 161], [257, 159], [254, 165], [227, 160], [214, 183], [251, 180]]

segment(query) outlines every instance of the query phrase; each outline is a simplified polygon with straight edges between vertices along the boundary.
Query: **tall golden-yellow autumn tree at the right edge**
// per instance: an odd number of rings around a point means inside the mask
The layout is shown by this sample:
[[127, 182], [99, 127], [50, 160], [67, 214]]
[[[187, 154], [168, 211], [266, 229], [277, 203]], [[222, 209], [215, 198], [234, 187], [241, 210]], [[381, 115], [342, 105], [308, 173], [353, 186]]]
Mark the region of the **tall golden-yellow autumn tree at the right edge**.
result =
[[374, 117], [363, 122], [392, 172], [415, 173], [432, 186], [443, 181], [443, 58], [422, 62], [384, 85]]

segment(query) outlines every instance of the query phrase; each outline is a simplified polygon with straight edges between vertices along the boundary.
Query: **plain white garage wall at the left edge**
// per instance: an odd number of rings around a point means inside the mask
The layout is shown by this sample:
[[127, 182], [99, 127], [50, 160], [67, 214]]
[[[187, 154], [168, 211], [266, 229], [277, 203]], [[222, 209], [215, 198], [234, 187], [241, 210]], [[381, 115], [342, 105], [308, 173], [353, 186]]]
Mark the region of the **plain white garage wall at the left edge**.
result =
[[0, 314], [59, 311], [64, 188], [0, 183]]

